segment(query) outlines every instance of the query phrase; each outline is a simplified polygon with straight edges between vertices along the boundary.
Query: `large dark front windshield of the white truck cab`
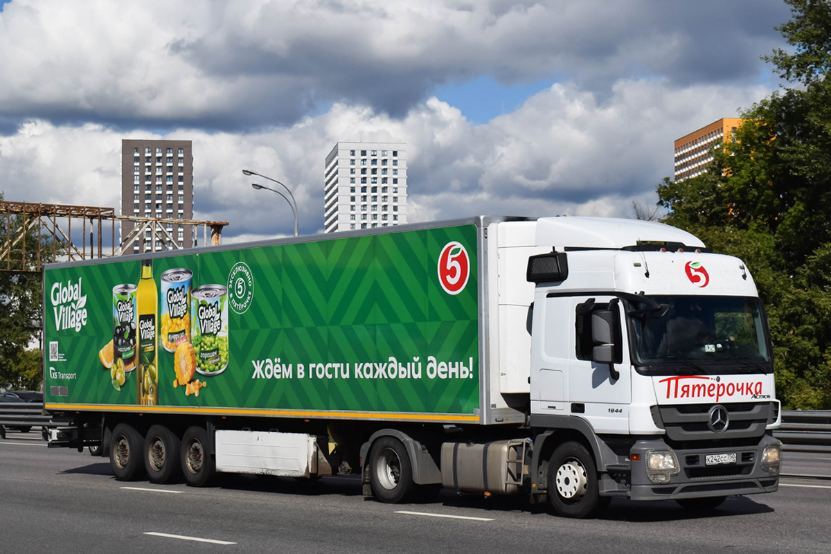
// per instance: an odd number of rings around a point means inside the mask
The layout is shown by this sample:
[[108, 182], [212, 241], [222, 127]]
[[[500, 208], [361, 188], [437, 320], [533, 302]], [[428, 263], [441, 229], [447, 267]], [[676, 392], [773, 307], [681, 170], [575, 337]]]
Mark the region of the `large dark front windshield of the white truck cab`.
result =
[[629, 302], [636, 363], [701, 369], [708, 362], [720, 362], [757, 370], [765, 369], [760, 365], [770, 365], [764, 312], [758, 298], [648, 299], [654, 302]]

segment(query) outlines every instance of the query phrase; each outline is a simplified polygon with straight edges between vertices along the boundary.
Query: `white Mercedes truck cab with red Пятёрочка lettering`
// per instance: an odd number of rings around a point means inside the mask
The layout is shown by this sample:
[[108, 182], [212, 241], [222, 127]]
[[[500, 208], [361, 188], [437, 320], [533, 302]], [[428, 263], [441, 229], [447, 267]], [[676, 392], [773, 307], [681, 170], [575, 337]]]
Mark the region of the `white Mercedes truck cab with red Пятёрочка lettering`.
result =
[[[552, 250], [528, 267], [535, 488], [573, 515], [613, 496], [710, 507], [776, 490], [770, 334], [744, 263], [661, 223], [536, 226]], [[593, 460], [556, 452], [568, 434]]]

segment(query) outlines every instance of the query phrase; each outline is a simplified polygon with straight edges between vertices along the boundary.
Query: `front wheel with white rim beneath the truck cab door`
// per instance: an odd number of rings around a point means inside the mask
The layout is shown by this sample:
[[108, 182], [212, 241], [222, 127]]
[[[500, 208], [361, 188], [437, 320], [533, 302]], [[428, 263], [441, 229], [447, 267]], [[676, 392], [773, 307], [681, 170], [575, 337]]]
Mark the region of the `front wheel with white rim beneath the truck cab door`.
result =
[[560, 444], [548, 463], [548, 503], [562, 517], [597, 517], [609, 505], [598, 493], [597, 466], [583, 444]]

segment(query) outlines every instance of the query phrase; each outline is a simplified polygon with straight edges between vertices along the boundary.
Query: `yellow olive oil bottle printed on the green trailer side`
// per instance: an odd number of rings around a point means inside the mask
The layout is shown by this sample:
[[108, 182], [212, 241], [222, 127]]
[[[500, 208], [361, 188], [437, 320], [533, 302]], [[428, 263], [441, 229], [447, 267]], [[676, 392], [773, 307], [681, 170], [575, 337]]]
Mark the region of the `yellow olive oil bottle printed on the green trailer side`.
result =
[[141, 278], [135, 291], [139, 323], [139, 365], [135, 390], [139, 404], [159, 404], [159, 297], [153, 280], [153, 261], [141, 261]]

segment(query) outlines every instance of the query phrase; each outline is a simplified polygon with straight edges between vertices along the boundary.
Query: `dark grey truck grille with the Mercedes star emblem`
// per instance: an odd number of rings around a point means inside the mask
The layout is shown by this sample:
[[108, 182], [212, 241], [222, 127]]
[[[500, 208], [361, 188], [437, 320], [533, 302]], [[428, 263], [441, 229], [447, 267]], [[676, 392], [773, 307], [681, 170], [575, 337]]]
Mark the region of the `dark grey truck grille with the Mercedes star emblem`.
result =
[[771, 402], [720, 404], [727, 410], [729, 424], [721, 433], [710, 428], [710, 409], [714, 404], [652, 406], [652, 419], [671, 441], [687, 442], [722, 439], [751, 439], [765, 434], [775, 417]]

